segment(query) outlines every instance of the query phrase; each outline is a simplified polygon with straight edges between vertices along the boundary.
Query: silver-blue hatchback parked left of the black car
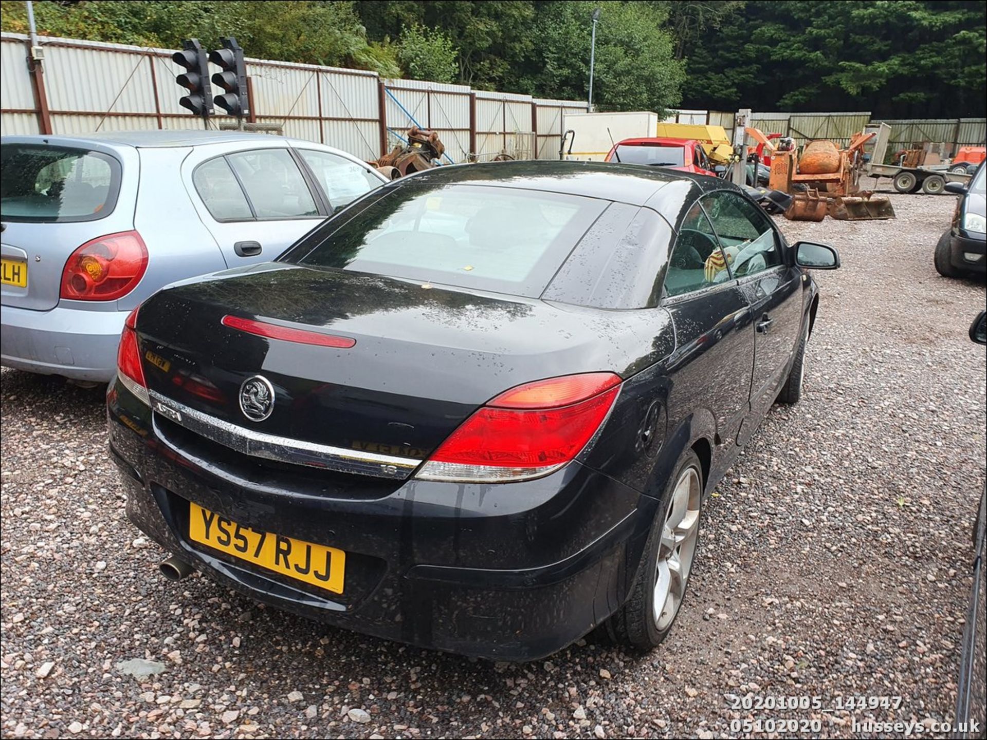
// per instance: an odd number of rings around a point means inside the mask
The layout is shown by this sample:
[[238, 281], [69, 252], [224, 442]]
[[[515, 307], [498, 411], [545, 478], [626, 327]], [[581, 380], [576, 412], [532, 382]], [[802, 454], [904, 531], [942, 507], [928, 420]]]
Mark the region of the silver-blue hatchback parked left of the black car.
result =
[[90, 382], [148, 296], [271, 260], [387, 181], [331, 147], [217, 131], [7, 136], [0, 169], [2, 364]]

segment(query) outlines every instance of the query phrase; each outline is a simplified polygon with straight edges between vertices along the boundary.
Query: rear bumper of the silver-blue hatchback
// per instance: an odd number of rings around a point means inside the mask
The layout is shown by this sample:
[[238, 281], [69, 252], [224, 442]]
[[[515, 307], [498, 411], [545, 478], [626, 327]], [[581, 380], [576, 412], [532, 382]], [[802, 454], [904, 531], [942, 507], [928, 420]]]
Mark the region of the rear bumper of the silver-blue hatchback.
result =
[[110, 382], [126, 311], [57, 305], [46, 311], [5, 305], [0, 363], [7, 368]]

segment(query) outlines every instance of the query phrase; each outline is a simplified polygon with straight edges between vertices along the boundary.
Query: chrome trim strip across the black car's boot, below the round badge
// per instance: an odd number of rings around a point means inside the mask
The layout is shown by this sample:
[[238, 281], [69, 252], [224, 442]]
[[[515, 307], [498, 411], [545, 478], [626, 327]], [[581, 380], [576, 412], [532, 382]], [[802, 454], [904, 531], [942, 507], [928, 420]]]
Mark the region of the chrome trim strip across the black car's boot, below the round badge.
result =
[[[173, 401], [153, 390], [150, 391], [150, 397], [153, 402], [151, 408], [163, 418], [185, 427], [190, 432], [254, 457], [290, 462], [295, 465], [307, 465], [341, 473], [358, 473], [377, 478], [399, 480], [408, 478], [421, 464], [421, 460], [414, 457], [362, 452], [290, 437], [266, 435], [263, 432], [245, 429], [203, 414], [201, 411]], [[160, 411], [158, 404], [161, 404], [168, 411]], [[169, 411], [172, 413], [168, 413]], [[178, 419], [173, 416], [176, 412]]]

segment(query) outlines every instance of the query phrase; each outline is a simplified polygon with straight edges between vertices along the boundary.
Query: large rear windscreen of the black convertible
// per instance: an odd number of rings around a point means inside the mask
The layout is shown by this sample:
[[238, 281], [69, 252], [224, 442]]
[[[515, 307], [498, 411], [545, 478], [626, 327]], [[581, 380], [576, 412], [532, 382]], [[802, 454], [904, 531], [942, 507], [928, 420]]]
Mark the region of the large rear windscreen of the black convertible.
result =
[[279, 261], [537, 298], [607, 205], [540, 190], [403, 183]]

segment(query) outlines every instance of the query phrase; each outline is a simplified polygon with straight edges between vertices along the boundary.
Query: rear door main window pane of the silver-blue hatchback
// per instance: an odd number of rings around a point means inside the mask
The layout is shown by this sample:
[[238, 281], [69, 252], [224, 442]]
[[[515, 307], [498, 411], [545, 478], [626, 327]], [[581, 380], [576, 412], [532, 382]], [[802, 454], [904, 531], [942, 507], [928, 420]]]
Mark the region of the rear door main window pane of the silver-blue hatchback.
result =
[[256, 149], [226, 158], [259, 219], [318, 216], [312, 193], [286, 149]]

